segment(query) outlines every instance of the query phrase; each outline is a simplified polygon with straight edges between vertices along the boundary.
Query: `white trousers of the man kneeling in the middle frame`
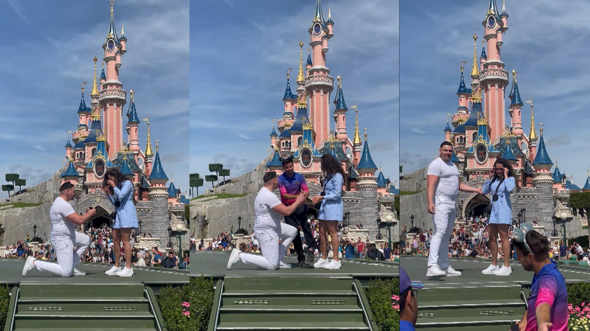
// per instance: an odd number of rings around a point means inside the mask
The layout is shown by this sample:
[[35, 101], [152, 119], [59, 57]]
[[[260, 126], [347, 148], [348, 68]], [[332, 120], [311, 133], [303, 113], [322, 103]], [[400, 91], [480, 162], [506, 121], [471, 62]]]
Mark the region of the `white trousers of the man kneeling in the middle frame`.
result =
[[[240, 253], [240, 260], [244, 263], [256, 264], [267, 270], [277, 269], [278, 261], [287, 254], [289, 245], [298, 233], [299, 231], [295, 227], [285, 223], [281, 223], [281, 228], [277, 230], [254, 228], [262, 256]], [[281, 239], [281, 244], [278, 244], [279, 239]]]

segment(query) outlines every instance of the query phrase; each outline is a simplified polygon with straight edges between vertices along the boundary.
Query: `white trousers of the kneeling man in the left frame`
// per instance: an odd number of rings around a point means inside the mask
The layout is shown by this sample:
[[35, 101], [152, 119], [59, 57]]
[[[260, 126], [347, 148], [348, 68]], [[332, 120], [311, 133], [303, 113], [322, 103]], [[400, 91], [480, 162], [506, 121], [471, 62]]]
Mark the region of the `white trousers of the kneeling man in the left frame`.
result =
[[[80, 263], [84, 252], [90, 246], [90, 236], [76, 232], [75, 238], [52, 238], [51, 245], [55, 250], [57, 263], [37, 260], [35, 267], [37, 270], [47, 271], [60, 277], [70, 277], [72, 270]], [[74, 246], [77, 247], [76, 251]]]

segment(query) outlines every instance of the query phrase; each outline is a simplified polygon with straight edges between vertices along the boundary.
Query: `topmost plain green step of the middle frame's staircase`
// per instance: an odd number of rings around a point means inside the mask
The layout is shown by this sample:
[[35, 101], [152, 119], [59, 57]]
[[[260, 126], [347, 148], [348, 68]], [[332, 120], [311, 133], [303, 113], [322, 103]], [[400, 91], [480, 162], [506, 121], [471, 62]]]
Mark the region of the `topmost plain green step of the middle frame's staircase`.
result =
[[228, 278], [224, 279], [225, 291], [234, 290], [265, 290], [281, 289], [299, 291], [306, 290], [350, 290], [352, 289], [352, 278], [350, 277], [324, 277], [324, 278], [289, 278], [289, 277], [268, 277], [268, 278]]

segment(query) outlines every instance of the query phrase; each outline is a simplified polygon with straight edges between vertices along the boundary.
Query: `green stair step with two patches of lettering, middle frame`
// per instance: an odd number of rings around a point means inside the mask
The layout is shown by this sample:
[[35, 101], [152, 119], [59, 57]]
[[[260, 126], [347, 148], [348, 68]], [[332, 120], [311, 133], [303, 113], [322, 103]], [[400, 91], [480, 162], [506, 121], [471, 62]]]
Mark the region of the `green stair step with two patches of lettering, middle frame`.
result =
[[297, 306], [333, 306], [335, 304], [346, 304], [357, 306], [359, 304], [358, 297], [355, 292], [348, 291], [348, 294], [333, 295], [332, 293], [323, 295], [295, 295], [289, 294], [284, 296], [272, 296], [266, 294], [257, 294], [254, 296], [245, 295], [231, 295], [224, 296], [221, 298], [221, 305], [224, 307], [230, 306], [283, 306], [284, 304], [297, 305]]

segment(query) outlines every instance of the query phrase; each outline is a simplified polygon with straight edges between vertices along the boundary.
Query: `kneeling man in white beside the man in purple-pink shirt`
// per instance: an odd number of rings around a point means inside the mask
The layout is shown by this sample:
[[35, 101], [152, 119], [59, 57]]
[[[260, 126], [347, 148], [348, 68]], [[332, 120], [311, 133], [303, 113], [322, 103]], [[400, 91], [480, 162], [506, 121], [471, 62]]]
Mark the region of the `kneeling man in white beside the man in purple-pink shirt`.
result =
[[[256, 214], [254, 233], [260, 244], [262, 256], [234, 249], [231, 251], [230, 260], [227, 263], [228, 270], [238, 261], [252, 263], [267, 270], [274, 270], [279, 266], [281, 268], [291, 267], [289, 264], [283, 263], [281, 259], [287, 253], [295, 236], [299, 234], [299, 230], [289, 224], [281, 223], [281, 215], [293, 214], [297, 207], [305, 203], [305, 197], [303, 194], [299, 194], [296, 201], [287, 207], [273, 193], [278, 188], [277, 173], [269, 171], [264, 174], [263, 180], [264, 186], [258, 191], [254, 200], [254, 213]], [[280, 244], [278, 243], [279, 239], [281, 240]]]

